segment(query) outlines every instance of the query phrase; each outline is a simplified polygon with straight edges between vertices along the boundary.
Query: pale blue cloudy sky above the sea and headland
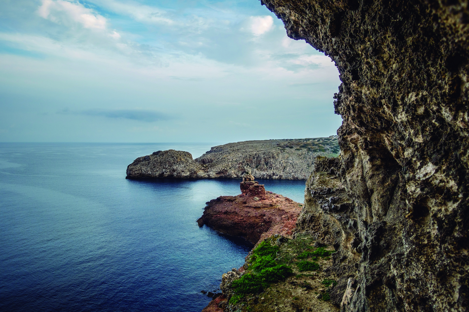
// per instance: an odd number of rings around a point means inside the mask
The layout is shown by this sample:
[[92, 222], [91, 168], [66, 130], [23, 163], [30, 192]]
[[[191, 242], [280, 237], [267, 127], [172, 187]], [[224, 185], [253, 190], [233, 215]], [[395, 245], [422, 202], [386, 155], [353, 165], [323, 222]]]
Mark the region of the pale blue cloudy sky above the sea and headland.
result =
[[326, 137], [339, 84], [259, 0], [0, 1], [0, 142]]

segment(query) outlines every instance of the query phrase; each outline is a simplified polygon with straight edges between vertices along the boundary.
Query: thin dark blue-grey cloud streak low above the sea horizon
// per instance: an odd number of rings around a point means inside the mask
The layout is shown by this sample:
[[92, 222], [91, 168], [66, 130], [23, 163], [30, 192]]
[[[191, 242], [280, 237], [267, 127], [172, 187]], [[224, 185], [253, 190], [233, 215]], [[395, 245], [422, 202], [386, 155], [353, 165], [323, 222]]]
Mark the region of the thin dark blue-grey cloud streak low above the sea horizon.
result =
[[170, 116], [160, 113], [155, 110], [144, 109], [89, 109], [83, 111], [70, 111], [69, 109], [62, 109], [57, 112], [63, 115], [85, 115], [85, 116], [101, 116], [113, 119], [130, 119], [137, 121], [145, 121], [148, 123], [171, 119]]

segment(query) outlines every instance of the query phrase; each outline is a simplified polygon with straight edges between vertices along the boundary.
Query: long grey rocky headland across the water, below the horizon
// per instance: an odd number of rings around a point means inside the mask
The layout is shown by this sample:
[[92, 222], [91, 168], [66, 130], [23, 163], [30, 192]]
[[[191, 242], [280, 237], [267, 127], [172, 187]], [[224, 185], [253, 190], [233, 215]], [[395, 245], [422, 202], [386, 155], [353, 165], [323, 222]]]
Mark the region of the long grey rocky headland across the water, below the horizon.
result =
[[337, 137], [244, 141], [214, 146], [193, 160], [182, 151], [158, 151], [137, 158], [127, 167], [128, 179], [193, 178], [306, 180], [316, 156], [336, 157]]

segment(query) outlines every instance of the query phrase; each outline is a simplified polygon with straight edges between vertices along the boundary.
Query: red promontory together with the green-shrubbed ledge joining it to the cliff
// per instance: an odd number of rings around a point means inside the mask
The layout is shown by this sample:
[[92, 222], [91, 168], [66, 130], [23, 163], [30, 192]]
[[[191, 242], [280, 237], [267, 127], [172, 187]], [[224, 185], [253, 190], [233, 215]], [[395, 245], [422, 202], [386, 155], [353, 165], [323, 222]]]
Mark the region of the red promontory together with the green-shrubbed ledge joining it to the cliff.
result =
[[329, 298], [336, 284], [329, 272], [333, 247], [316, 246], [309, 234], [293, 235], [303, 204], [265, 191], [251, 174], [243, 175], [240, 188], [241, 195], [207, 202], [197, 220], [255, 244], [241, 268], [223, 274], [222, 294], [203, 312], [337, 312]]

